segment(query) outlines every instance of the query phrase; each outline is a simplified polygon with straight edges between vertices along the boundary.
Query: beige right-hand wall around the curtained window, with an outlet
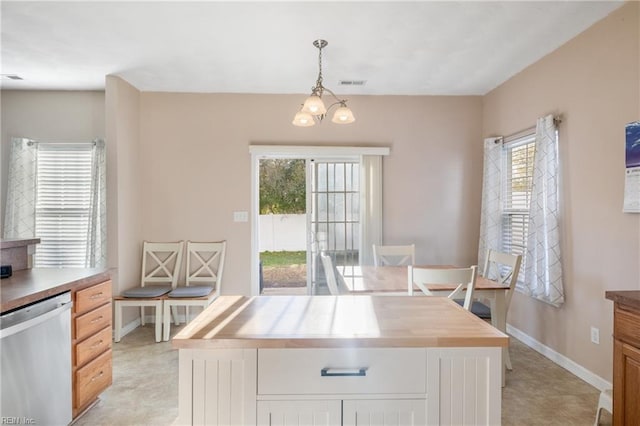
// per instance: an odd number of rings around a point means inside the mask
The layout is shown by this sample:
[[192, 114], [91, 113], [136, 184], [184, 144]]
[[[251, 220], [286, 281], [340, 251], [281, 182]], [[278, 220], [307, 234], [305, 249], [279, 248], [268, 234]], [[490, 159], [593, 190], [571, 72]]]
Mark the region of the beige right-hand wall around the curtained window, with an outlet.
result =
[[508, 321], [607, 380], [613, 306], [604, 293], [640, 289], [640, 215], [622, 213], [625, 124], [640, 119], [639, 18], [636, 2], [613, 12], [488, 93], [483, 106], [484, 136], [563, 116], [566, 303], [557, 309], [516, 293]]

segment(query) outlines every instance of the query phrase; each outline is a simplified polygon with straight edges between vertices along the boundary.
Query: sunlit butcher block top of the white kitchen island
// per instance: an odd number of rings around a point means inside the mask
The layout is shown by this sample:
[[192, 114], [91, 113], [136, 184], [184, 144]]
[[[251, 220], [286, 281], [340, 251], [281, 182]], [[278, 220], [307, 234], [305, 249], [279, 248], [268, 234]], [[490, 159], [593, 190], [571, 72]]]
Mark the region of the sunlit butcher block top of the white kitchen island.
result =
[[509, 337], [446, 297], [221, 296], [175, 348], [504, 347]]

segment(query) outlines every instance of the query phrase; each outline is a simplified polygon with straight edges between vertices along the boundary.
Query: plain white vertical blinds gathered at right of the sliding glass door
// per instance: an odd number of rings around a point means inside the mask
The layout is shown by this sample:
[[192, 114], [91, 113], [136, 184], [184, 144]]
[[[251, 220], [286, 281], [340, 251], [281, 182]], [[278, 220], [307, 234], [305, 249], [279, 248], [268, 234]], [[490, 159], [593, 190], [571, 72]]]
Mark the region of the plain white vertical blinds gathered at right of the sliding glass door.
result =
[[360, 160], [360, 263], [373, 265], [373, 244], [382, 244], [382, 156]]

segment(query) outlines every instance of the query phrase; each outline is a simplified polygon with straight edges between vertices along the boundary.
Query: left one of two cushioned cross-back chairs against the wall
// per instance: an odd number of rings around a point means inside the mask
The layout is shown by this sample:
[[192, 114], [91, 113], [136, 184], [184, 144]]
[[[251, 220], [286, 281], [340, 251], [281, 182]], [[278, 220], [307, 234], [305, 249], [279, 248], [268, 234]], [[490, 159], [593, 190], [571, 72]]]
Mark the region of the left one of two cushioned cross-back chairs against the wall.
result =
[[122, 337], [122, 308], [126, 306], [140, 307], [141, 325], [145, 325], [145, 307], [155, 308], [155, 338], [156, 342], [162, 340], [162, 303], [164, 296], [178, 284], [183, 249], [183, 241], [143, 243], [140, 285], [127, 289], [114, 298], [116, 342]]

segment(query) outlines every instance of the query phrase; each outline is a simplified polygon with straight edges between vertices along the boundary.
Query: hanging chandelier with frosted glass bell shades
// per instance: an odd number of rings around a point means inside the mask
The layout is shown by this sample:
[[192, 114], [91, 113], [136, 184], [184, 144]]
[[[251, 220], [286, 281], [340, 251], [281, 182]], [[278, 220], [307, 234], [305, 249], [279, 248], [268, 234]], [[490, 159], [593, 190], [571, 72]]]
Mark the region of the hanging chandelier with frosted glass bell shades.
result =
[[[310, 127], [316, 124], [316, 121], [321, 122], [327, 115], [328, 111], [334, 106], [338, 106], [336, 112], [333, 114], [332, 122], [338, 124], [349, 124], [356, 121], [353, 113], [347, 107], [346, 99], [339, 99], [335, 93], [327, 89], [322, 85], [322, 49], [327, 46], [326, 40], [316, 40], [313, 45], [318, 48], [318, 79], [316, 85], [311, 88], [311, 95], [304, 101], [302, 108], [298, 111], [293, 118], [293, 125], [298, 127]], [[329, 108], [324, 106], [322, 102], [322, 95], [324, 92], [329, 93], [335, 99]]]

